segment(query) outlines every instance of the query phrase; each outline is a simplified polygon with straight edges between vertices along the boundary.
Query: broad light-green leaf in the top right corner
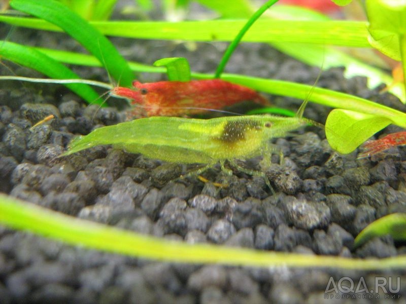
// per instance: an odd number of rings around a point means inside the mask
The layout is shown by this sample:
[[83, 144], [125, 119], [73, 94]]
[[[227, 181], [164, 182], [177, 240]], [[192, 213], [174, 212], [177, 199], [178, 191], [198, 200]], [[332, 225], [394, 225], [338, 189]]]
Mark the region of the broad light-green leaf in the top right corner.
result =
[[367, 0], [368, 41], [385, 55], [401, 60], [399, 37], [406, 34], [406, 2]]

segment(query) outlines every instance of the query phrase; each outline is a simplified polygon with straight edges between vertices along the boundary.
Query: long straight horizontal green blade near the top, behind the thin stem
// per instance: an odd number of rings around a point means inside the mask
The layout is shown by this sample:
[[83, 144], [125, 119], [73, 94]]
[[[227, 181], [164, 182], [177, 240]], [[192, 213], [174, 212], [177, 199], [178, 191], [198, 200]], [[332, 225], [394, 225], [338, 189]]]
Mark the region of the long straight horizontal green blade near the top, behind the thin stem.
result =
[[[13, 0], [17, 1], [17, 0]], [[19, 0], [23, 1], [23, 0]], [[0, 16], [0, 21], [36, 29], [61, 31], [46, 21]], [[111, 36], [183, 41], [231, 41], [246, 20], [210, 21], [91, 21]], [[244, 42], [303, 42], [310, 44], [370, 48], [366, 23], [362, 21], [258, 20], [243, 37]], [[306, 34], [299, 34], [306, 33]]]

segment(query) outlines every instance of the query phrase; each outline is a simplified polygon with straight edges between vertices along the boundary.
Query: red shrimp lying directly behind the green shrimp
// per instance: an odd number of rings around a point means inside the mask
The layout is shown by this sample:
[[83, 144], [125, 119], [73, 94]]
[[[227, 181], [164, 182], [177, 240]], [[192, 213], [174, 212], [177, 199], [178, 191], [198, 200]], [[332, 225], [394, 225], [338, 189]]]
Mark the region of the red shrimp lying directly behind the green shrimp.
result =
[[134, 81], [132, 85], [134, 89], [116, 87], [110, 94], [141, 105], [148, 117], [196, 114], [246, 100], [269, 105], [268, 100], [254, 90], [220, 79], [145, 84]]

